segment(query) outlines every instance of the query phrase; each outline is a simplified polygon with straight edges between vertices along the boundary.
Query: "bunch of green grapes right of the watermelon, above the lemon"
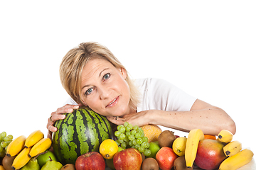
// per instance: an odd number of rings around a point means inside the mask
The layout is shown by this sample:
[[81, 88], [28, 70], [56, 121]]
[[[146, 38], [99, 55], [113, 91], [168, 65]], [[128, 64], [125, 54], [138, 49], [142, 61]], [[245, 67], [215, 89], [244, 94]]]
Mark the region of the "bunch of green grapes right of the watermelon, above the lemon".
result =
[[117, 137], [117, 145], [123, 149], [132, 147], [137, 149], [145, 156], [149, 156], [151, 151], [149, 148], [148, 138], [144, 136], [144, 131], [137, 125], [131, 125], [125, 122], [124, 125], [118, 125], [117, 131], [114, 132]]

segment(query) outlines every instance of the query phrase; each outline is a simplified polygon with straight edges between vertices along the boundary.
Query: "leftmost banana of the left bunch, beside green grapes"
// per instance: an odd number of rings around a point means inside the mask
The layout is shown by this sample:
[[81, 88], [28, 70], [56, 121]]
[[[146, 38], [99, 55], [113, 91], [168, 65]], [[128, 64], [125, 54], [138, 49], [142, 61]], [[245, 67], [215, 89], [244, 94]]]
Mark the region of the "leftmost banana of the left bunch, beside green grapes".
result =
[[21, 150], [24, 148], [25, 141], [26, 141], [26, 137], [23, 135], [11, 141], [11, 143], [8, 145], [6, 149], [6, 155], [8, 157], [14, 157], [16, 154], [21, 152]]

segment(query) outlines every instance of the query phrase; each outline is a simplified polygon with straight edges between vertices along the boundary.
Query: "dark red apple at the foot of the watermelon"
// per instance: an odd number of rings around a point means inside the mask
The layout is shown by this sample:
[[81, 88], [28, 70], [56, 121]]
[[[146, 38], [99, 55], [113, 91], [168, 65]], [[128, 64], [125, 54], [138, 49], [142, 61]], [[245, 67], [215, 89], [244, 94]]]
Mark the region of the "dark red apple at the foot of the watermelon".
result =
[[98, 152], [88, 152], [82, 154], [75, 161], [76, 170], [85, 170], [85, 169], [99, 169], [105, 170], [105, 160], [102, 155]]

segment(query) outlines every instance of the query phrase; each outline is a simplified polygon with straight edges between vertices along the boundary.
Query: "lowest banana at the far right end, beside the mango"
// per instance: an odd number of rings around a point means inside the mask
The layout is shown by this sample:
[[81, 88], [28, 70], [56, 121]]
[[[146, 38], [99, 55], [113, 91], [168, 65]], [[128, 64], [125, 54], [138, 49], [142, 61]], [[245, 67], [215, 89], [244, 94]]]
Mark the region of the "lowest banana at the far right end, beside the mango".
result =
[[219, 170], [235, 170], [248, 164], [253, 157], [253, 152], [250, 149], [243, 149], [231, 157], [225, 159], [219, 167]]

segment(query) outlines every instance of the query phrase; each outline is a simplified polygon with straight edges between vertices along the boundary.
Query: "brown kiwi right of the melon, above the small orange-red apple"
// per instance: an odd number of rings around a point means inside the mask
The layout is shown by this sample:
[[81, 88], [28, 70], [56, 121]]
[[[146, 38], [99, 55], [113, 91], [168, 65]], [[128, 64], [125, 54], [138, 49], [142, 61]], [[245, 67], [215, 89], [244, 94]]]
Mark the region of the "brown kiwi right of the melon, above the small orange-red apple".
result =
[[159, 147], [171, 147], [174, 143], [174, 140], [176, 139], [176, 136], [174, 135], [174, 132], [170, 130], [164, 130], [160, 133], [158, 137], [159, 141]]

